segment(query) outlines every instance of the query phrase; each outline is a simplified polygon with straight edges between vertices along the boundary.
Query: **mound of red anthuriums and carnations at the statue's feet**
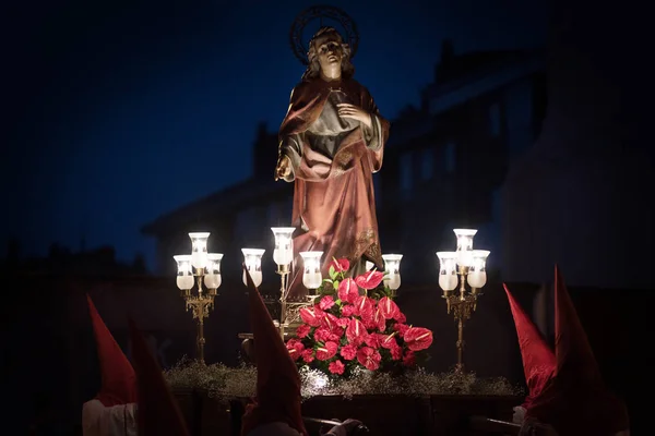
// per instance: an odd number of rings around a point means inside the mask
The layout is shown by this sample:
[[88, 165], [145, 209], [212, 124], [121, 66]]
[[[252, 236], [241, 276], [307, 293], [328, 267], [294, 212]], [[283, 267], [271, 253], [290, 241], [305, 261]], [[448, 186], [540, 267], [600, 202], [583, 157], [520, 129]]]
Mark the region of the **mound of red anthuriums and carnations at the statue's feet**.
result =
[[349, 268], [347, 259], [335, 258], [313, 306], [300, 310], [302, 324], [286, 343], [291, 358], [299, 368], [334, 377], [358, 370], [403, 372], [415, 366], [432, 343], [432, 331], [406, 324], [383, 283], [383, 272], [352, 278]]

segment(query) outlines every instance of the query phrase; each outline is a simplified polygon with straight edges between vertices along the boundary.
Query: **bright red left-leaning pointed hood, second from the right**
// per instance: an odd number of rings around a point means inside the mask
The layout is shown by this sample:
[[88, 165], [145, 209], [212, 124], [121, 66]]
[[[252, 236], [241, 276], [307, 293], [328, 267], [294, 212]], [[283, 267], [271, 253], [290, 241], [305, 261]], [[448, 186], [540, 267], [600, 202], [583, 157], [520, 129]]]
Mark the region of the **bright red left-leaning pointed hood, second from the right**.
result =
[[555, 353], [541, 334], [529, 319], [523, 307], [514, 299], [508, 286], [503, 283], [514, 325], [516, 326], [516, 336], [519, 337], [519, 347], [521, 349], [521, 358], [523, 360], [523, 372], [525, 373], [525, 383], [527, 384], [528, 393], [525, 397], [523, 407], [528, 409], [532, 401], [538, 397], [546, 384], [552, 378], [556, 368]]

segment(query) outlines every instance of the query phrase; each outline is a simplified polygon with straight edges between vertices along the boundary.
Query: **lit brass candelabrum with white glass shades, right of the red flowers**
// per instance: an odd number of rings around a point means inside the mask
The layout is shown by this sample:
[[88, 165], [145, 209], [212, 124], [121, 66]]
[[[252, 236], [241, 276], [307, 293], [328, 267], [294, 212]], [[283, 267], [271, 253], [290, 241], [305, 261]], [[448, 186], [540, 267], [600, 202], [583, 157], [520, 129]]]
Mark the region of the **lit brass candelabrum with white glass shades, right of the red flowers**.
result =
[[[439, 287], [443, 290], [446, 311], [457, 322], [457, 365], [456, 371], [464, 371], [464, 323], [471, 318], [477, 307], [480, 290], [487, 283], [487, 257], [489, 251], [473, 250], [473, 237], [477, 230], [454, 229], [457, 238], [455, 252], [438, 252]], [[457, 277], [458, 276], [458, 277]], [[471, 291], [466, 290], [466, 284]], [[458, 291], [455, 291], [457, 289]]]

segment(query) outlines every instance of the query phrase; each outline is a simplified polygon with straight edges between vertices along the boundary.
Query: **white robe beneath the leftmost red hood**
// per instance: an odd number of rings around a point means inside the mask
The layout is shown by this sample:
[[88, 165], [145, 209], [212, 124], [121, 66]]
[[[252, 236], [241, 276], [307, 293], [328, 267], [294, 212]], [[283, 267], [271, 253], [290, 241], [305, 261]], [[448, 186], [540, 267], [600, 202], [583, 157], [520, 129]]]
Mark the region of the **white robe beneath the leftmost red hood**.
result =
[[93, 399], [82, 405], [83, 436], [136, 436], [136, 403], [105, 407]]

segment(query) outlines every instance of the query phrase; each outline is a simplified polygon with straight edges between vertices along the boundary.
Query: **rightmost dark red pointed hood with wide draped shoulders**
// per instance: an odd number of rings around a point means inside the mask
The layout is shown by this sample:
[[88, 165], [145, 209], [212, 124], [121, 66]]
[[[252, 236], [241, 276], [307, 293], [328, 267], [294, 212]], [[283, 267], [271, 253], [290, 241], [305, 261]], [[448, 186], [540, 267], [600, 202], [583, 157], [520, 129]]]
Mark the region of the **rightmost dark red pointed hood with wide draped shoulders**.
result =
[[555, 269], [553, 377], [535, 396], [526, 419], [550, 424], [560, 436], [614, 435], [629, 428], [624, 403], [607, 390], [559, 269]]

